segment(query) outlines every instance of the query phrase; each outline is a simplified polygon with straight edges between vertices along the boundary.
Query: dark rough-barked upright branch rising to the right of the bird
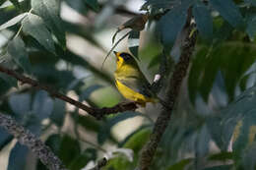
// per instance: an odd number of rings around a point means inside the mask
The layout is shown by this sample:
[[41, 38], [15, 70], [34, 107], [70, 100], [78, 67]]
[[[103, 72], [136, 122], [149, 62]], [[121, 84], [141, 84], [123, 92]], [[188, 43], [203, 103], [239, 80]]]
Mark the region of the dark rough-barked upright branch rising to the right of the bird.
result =
[[170, 116], [173, 111], [173, 107], [178, 96], [182, 80], [186, 76], [189, 66], [189, 60], [194, 51], [197, 37], [197, 31], [192, 33], [192, 36], [190, 37], [190, 33], [193, 31], [194, 28], [193, 25], [190, 25], [190, 21], [191, 15], [189, 15], [187, 19], [188, 31], [186, 32], [186, 38], [182, 45], [182, 53], [179, 62], [175, 65], [174, 72], [170, 79], [169, 88], [165, 97], [165, 101], [169, 107], [162, 107], [160, 116], [158, 117], [153, 133], [151, 134], [150, 141], [147, 142], [142, 149], [139, 161], [140, 170], [148, 170], [153, 161], [161, 137], [170, 120]]

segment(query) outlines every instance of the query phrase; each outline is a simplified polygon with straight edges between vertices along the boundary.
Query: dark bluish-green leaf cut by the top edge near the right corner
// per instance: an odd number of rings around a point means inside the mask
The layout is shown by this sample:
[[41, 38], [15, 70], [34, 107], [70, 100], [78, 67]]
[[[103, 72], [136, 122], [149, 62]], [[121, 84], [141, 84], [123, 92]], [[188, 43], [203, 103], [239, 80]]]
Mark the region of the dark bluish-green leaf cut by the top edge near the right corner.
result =
[[243, 28], [243, 18], [232, 0], [210, 0], [210, 3], [232, 27]]

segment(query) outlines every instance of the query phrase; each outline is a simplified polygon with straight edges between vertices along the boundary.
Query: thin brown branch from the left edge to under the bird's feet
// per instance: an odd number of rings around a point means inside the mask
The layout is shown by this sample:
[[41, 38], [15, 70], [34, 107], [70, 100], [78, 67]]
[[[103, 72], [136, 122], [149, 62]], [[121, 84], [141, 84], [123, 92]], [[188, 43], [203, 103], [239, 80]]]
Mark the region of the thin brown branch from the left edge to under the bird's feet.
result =
[[49, 92], [49, 94], [52, 97], [56, 97], [63, 101], [66, 101], [66, 102], [88, 112], [90, 115], [96, 117], [96, 119], [101, 119], [104, 115], [114, 114], [114, 113], [118, 113], [118, 112], [124, 112], [124, 111], [128, 111], [128, 110], [135, 110], [137, 108], [137, 105], [134, 102], [119, 103], [113, 107], [93, 108], [93, 107], [83, 104], [82, 102], [74, 100], [73, 98], [71, 98], [67, 95], [64, 95], [60, 92], [53, 90], [51, 87], [49, 87], [47, 85], [40, 85], [38, 82], [32, 80], [31, 78], [25, 77], [11, 69], [5, 68], [2, 65], [0, 65], [0, 72], [17, 79], [18, 81], [22, 82], [23, 84], [29, 84], [38, 89], [46, 90], [47, 92]]

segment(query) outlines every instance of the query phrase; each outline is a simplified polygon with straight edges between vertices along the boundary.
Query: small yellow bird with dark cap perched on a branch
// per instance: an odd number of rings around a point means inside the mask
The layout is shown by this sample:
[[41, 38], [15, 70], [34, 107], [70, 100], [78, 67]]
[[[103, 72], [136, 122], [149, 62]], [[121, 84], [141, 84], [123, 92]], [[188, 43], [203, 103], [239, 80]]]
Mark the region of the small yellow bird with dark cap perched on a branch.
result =
[[147, 102], [157, 102], [158, 97], [152, 92], [151, 85], [141, 72], [136, 60], [126, 52], [115, 52], [115, 85], [127, 99], [145, 107]]

